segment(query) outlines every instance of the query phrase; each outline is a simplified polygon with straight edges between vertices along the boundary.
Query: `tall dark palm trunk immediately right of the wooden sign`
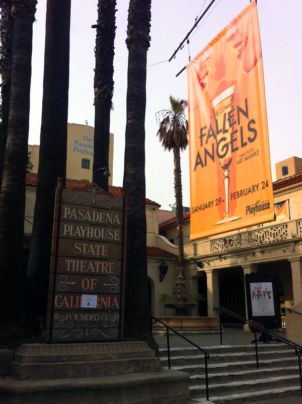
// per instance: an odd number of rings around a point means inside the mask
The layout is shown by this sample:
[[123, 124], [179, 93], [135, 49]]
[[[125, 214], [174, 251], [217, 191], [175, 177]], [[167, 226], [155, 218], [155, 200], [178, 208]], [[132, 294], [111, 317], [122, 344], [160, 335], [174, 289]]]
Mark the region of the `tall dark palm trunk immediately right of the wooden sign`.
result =
[[130, 0], [124, 188], [128, 198], [125, 338], [146, 341], [158, 352], [150, 329], [145, 213], [146, 61], [150, 46], [150, 0]]

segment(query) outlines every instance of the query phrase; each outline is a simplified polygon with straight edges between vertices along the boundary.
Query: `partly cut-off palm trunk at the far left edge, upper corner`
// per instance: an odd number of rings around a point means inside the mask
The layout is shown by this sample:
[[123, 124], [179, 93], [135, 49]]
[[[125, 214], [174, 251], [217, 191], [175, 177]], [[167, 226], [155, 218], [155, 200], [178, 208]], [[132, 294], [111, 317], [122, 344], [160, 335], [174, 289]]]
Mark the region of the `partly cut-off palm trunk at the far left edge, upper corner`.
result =
[[3, 178], [4, 154], [7, 142], [8, 121], [11, 98], [11, 68], [13, 58], [14, 18], [11, 14], [13, 0], [1, 1], [1, 59], [0, 72], [2, 78], [2, 134], [0, 140], [0, 192]]

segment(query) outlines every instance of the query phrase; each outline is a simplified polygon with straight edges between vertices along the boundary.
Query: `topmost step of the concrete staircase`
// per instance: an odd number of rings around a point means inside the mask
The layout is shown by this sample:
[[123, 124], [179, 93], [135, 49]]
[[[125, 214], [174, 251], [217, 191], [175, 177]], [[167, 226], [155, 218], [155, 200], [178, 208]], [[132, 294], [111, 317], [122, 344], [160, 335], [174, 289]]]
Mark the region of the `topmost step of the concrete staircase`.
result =
[[[216, 347], [202, 347], [206, 352], [211, 354], [220, 354], [220, 353], [240, 353], [240, 352], [255, 352], [255, 344], [250, 345], [218, 345]], [[282, 343], [272, 343], [272, 344], [262, 344], [258, 343], [258, 352], [263, 351], [293, 351], [291, 347]], [[201, 351], [195, 347], [187, 347], [187, 348], [170, 348], [170, 356], [192, 356], [192, 355], [200, 355]], [[167, 357], [168, 349], [161, 348], [160, 349], [160, 357]]]

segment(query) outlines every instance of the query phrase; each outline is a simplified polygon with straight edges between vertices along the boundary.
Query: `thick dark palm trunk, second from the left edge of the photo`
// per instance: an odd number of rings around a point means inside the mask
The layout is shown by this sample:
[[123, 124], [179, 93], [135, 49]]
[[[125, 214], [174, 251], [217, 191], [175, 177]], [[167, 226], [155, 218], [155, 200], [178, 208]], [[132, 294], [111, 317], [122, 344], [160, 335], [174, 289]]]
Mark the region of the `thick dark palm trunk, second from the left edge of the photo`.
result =
[[[13, 1], [14, 47], [4, 176], [0, 195], [0, 340], [22, 337], [25, 322], [23, 239], [32, 27], [36, 0]], [[8, 330], [11, 333], [8, 335]], [[25, 330], [26, 334], [26, 330]]]

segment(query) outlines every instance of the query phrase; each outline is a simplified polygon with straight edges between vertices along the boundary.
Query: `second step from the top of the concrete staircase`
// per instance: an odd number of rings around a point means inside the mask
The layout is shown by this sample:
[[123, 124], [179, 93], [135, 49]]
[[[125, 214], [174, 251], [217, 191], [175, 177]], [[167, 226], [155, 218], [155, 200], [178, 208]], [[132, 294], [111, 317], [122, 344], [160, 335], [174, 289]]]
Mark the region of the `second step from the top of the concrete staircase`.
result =
[[[259, 359], [274, 359], [278, 358], [289, 358], [295, 356], [294, 350], [271, 350], [271, 351], [261, 351], [258, 352]], [[237, 362], [246, 361], [246, 360], [253, 360], [256, 358], [256, 352], [229, 352], [225, 354], [210, 354], [210, 359], [208, 363], [219, 363], [219, 362], [230, 362], [230, 360], [234, 360]], [[160, 358], [162, 361], [163, 366], [168, 364], [168, 357]], [[256, 359], [255, 359], [256, 360]], [[204, 354], [196, 354], [196, 355], [180, 355], [174, 356], [170, 358], [171, 366], [177, 365], [185, 365], [185, 364], [198, 364], [204, 361]]]

